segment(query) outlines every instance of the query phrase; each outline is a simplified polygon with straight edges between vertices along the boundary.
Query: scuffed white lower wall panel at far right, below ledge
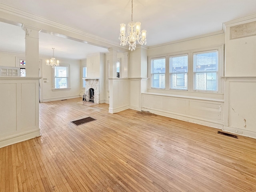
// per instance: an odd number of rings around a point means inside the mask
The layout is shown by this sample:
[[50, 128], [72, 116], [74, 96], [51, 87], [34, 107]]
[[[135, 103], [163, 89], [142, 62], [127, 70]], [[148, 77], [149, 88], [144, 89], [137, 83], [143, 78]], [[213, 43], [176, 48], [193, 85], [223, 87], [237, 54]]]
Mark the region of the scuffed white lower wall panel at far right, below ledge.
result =
[[224, 130], [256, 138], [256, 77], [226, 77]]

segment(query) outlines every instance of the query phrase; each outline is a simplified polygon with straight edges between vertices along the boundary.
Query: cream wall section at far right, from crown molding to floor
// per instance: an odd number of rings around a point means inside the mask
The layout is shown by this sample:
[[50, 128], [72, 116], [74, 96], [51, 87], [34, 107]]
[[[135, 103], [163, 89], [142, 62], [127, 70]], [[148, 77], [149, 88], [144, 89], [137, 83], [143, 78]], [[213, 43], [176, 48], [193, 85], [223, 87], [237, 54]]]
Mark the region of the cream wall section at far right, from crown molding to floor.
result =
[[[251, 22], [254, 24], [251, 25]], [[224, 130], [253, 138], [256, 138], [255, 22], [256, 14], [248, 16], [245, 20], [234, 20], [225, 24], [226, 78], [224, 78]]]

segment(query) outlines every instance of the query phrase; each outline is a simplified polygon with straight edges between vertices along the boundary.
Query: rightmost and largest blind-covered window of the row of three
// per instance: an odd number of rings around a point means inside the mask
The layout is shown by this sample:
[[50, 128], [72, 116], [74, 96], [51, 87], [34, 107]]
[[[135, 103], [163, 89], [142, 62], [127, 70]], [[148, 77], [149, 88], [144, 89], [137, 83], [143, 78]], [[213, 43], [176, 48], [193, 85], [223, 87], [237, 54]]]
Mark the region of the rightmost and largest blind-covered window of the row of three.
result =
[[194, 53], [194, 90], [218, 90], [218, 50]]

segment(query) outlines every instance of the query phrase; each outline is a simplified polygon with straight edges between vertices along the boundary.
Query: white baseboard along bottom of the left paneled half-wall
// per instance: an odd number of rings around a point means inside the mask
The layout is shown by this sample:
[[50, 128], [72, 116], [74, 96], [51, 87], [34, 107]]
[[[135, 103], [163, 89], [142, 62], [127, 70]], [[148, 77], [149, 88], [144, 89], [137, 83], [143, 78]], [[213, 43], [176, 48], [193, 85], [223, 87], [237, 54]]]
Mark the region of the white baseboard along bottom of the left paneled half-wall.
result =
[[34, 129], [34, 130], [14, 134], [11, 136], [6, 136], [0, 139], [0, 148], [15, 144], [15, 143], [19, 143], [22, 141], [26, 141], [32, 138], [36, 138], [39, 136], [41, 136], [40, 129]]

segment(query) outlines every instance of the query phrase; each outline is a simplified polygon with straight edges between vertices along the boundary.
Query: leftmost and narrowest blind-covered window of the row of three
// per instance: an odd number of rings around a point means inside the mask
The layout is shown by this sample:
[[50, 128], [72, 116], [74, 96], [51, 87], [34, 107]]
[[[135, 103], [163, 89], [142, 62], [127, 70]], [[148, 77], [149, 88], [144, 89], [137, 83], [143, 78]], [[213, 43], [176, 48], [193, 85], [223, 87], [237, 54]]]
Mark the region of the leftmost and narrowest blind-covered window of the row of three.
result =
[[165, 58], [151, 60], [151, 88], [165, 88]]

